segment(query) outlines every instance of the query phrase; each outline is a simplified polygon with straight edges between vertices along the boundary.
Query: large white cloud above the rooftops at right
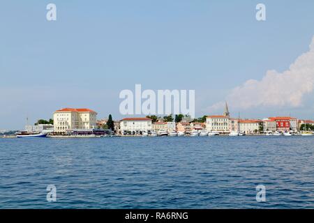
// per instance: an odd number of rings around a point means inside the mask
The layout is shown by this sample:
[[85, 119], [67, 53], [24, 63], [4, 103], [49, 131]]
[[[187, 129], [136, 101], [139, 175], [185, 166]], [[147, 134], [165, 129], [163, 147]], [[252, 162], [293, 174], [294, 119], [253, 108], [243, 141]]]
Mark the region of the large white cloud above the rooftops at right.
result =
[[[249, 79], [227, 95], [230, 107], [299, 107], [302, 99], [314, 89], [314, 37], [310, 50], [299, 56], [289, 70], [268, 70], [262, 80]], [[223, 107], [223, 102], [212, 105], [210, 111]]]

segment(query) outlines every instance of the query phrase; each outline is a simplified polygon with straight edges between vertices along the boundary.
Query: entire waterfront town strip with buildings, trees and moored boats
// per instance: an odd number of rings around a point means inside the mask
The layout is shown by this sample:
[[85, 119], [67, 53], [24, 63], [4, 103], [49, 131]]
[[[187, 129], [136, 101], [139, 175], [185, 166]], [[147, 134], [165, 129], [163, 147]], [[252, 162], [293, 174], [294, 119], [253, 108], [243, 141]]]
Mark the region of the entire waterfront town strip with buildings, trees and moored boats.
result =
[[[225, 103], [223, 114], [193, 119], [188, 115], [97, 119], [91, 109], [63, 108], [50, 121], [38, 120], [15, 132], [16, 137], [106, 137], [106, 136], [216, 136], [216, 135], [313, 135], [314, 121], [290, 116], [264, 119], [232, 118]], [[2, 135], [5, 134], [2, 132]], [[12, 135], [11, 135], [12, 137]]]

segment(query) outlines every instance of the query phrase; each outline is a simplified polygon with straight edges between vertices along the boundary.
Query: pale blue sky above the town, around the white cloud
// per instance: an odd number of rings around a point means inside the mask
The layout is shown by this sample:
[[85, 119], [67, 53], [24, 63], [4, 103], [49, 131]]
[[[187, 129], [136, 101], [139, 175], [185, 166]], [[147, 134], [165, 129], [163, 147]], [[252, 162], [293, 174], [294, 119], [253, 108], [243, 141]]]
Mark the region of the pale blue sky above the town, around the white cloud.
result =
[[[57, 21], [45, 18], [57, 5]], [[267, 21], [255, 6], [267, 6]], [[196, 116], [248, 79], [283, 72], [314, 36], [314, 1], [1, 1], [0, 129], [29, 116], [88, 107], [119, 114], [119, 92], [195, 89]], [[233, 109], [264, 118], [314, 118], [313, 93], [300, 107]], [[305, 106], [308, 105], [308, 106]], [[221, 111], [222, 112], [222, 111]]]

